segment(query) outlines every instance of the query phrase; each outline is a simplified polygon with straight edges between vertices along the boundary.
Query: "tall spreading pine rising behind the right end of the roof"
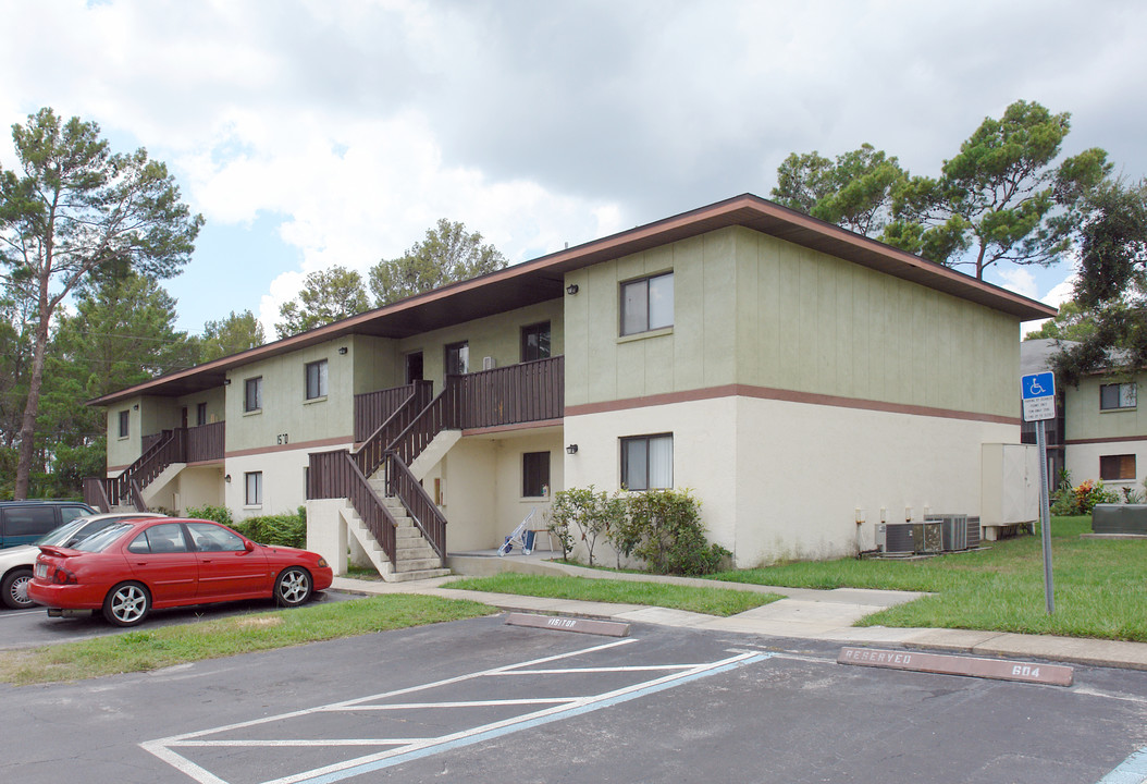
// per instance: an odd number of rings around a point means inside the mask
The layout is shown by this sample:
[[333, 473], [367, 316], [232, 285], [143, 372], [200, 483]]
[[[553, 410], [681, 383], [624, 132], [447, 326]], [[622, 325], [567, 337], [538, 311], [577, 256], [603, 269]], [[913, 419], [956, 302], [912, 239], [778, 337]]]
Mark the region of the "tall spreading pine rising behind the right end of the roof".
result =
[[1059, 262], [1086, 195], [1110, 172], [1098, 148], [1054, 165], [1069, 119], [1027, 101], [986, 117], [939, 179], [913, 177], [898, 187], [883, 239], [935, 262], [972, 264], [978, 279], [998, 262]]

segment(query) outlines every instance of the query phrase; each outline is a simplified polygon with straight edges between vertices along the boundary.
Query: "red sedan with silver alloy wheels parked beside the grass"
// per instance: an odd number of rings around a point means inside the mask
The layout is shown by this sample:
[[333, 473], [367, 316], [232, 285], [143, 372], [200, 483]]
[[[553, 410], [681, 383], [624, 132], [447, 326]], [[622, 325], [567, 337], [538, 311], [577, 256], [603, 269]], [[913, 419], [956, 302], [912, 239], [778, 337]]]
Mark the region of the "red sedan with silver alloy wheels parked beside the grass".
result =
[[48, 608], [102, 610], [134, 626], [153, 607], [274, 598], [301, 605], [330, 587], [321, 556], [256, 544], [210, 520], [125, 520], [71, 548], [41, 546], [28, 596]]

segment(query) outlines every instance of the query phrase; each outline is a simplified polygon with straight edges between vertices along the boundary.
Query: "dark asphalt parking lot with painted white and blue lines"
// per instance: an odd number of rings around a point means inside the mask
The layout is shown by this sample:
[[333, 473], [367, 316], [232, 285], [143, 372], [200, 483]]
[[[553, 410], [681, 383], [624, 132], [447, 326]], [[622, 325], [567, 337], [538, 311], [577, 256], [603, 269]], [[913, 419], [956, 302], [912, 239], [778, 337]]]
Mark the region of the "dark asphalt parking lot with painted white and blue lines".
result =
[[1147, 674], [1069, 688], [848, 667], [840, 646], [459, 621], [3, 686], [3, 781], [1085, 782], [1147, 746]]

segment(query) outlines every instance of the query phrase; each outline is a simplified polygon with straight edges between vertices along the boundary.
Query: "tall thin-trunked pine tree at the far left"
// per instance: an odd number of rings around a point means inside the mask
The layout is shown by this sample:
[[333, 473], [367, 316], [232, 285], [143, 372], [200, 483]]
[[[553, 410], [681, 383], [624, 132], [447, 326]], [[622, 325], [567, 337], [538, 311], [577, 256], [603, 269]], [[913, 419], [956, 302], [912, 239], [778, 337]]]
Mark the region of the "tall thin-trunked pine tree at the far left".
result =
[[49, 108], [13, 125], [21, 171], [0, 168], [3, 284], [36, 303], [28, 401], [19, 429], [15, 497], [28, 495], [36, 417], [52, 319], [93, 277], [167, 278], [187, 263], [203, 225], [180, 201], [166, 166], [140, 148], [112, 154], [100, 126]]

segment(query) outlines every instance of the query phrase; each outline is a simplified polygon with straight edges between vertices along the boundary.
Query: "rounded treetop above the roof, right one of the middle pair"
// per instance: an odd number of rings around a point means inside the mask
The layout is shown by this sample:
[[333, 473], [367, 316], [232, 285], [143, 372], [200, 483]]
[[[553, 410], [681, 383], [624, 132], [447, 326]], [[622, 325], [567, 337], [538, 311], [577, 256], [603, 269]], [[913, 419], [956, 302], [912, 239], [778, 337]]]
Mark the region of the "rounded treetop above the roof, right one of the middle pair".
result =
[[370, 292], [375, 306], [429, 292], [458, 280], [468, 280], [506, 266], [506, 257], [492, 244], [482, 244], [482, 234], [467, 232], [461, 223], [440, 218], [421, 242], [401, 256], [382, 259], [370, 267]]

